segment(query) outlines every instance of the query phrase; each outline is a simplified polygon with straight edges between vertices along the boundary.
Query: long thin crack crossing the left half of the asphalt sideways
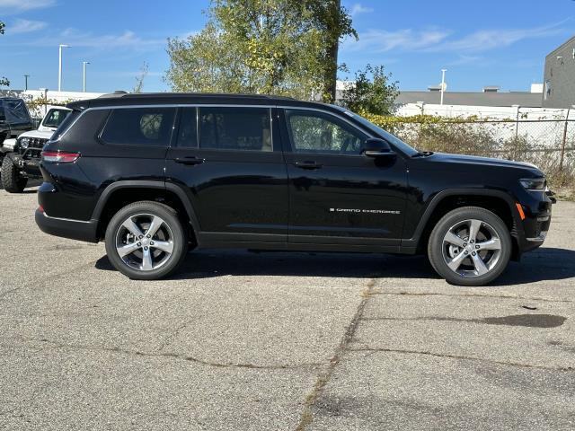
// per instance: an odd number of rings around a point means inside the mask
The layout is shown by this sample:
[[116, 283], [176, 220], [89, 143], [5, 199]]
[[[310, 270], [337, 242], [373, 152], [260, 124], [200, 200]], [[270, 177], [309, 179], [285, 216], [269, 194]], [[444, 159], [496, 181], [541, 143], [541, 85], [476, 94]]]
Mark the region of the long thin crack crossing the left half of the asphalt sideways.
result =
[[[116, 353], [120, 355], [128, 355], [128, 356], [141, 356], [141, 357], [165, 357], [165, 358], [172, 358], [172, 359], [179, 359], [183, 361], [192, 362], [199, 365], [208, 365], [214, 366], [217, 368], [249, 368], [254, 370], [288, 370], [288, 369], [301, 369], [301, 368], [317, 368], [323, 366], [325, 364], [320, 363], [308, 363], [308, 364], [280, 364], [280, 365], [256, 365], [256, 364], [241, 364], [241, 363], [218, 363], [212, 361], [206, 361], [203, 359], [199, 359], [195, 356], [188, 356], [173, 352], [166, 352], [166, 353], [150, 353], [150, 352], [142, 352], [140, 350], [130, 350], [128, 348], [120, 348], [120, 347], [98, 347], [98, 346], [85, 346], [85, 345], [75, 345], [75, 344], [63, 344], [58, 343], [57, 341], [51, 341], [49, 339], [25, 339], [26, 341], [36, 341], [42, 343], [49, 343], [51, 346], [41, 346], [41, 347], [30, 347], [35, 348], [39, 351], [46, 350], [46, 349], [68, 349], [68, 350], [84, 350], [84, 351], [93, 351], [93, 352], [109, 352], [109, 353]], [[11, 345], [11, 346], [2, 346], [1, 347], [25, 347], [22, 345]]]

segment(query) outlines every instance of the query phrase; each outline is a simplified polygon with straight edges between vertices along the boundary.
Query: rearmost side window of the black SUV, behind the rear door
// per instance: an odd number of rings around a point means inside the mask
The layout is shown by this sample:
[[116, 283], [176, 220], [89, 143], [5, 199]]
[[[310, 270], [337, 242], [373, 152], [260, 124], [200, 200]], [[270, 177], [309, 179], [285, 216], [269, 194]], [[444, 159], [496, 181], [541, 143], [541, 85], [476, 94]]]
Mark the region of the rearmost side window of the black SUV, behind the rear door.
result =
[[107, 144], [167, 146], [174, 112], [173, 108], [111, 110], [102, 140]]

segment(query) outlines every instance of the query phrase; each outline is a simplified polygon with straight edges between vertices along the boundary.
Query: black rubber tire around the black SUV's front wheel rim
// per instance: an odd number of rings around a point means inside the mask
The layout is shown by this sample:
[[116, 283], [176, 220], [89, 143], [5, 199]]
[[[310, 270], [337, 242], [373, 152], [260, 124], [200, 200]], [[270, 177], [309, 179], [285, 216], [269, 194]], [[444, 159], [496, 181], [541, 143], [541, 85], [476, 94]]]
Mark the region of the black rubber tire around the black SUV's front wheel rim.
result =
[[[447, 231], [455, 224], [468, 220], [477, 219], [491, 224], [500, 236], [501, 254], [500, 259], [487, 274], [478, 277], [463, 277], [447, 267], [443, 259], [443, 239]], [[448, 283], [458, 286], [483, 286], [495, 278], [500, 277], [501, 273], [507, 268], [511, 256], [512, 242], [507, 225], [491, 211], [481, 207], [462, 207], [457, 208], [439, 220], [429, 236], [428, 254], [431, 266], [435, 268], [438, 274], [444, 277]]]

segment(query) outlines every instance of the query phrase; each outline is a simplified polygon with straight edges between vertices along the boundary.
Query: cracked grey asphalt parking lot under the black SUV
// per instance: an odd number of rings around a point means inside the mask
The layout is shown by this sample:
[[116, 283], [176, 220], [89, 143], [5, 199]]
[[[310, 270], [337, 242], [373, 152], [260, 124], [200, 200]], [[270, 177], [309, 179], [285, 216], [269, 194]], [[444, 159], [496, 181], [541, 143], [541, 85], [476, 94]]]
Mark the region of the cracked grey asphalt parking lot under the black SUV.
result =
[[575, 204], [493, 286], [421, 257], [191, 252], [131, 281], [0, 190], [0, 428], [575, 428]]

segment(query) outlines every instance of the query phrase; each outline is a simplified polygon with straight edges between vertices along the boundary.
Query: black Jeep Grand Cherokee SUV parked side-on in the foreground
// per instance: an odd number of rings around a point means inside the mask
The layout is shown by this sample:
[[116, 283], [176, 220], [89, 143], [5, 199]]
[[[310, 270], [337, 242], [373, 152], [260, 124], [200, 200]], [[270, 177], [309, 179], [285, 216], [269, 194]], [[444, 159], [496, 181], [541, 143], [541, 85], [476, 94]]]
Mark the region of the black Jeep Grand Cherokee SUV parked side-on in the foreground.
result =
[[36, 222], [105, 240], [131, 278], [188, 248], [429, 254], [480, 286], [539, 247], [553, 198], [535, 166], [418, 152], [337, 106], [225, 94], [113, 94], [44, 147]]

